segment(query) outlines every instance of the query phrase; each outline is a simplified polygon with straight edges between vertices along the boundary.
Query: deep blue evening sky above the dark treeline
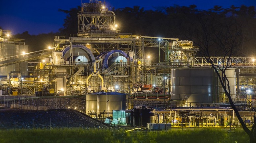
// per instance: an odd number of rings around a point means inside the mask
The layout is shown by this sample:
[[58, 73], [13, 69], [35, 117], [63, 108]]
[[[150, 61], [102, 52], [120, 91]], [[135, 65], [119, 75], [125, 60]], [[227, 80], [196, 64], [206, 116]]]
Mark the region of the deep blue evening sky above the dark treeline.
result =
[[[82, 0], [83, 3], [89, 1]], [[154, 7], [192, 4], [195, 4], [197, 9], [205, 10], [215, 5], [223, 8], [229, 8], [231, 5], [256, 7], [256, 0], [105, 0], [105, 2], [111, 9], [140, 6], [145, 10], [155, 10]], [[31, 35], [57, 32], [63, 26], [66, 17], [66, 14], [59, 12], [58, 9], [69, 10], [80, 5], [81, 0], [1, 0], [0, 27], [3, 30], [11, 30], [12, 34], [24, 31], [28, 31]]]

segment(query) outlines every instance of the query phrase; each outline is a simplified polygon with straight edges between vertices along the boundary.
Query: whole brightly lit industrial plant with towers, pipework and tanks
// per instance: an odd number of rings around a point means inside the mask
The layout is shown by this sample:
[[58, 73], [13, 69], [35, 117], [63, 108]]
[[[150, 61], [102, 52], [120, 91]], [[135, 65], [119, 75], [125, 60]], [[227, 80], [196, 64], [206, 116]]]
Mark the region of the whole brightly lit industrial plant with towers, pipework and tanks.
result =
[[[24, 40], [10, 39], [10, 31], [1, 30], [0, 95], [86, 96], [86, 106], [79, 109], [83, 113], [129, 126], [241, 126], [216, 72], [197, 56], [199, 48], [192, 41], [122, 33], [115, 13], [104, 5], [98, 0], [82, 3], [78, 32], [55, 36], [54, 46], [45, 50], [28, 52]], [[228, 60], [210, 58], [219, 65]], [[230, 95], [243, 120], [252, 125], [255, 59], [232, 60], [242, 62], [226, 70]]]

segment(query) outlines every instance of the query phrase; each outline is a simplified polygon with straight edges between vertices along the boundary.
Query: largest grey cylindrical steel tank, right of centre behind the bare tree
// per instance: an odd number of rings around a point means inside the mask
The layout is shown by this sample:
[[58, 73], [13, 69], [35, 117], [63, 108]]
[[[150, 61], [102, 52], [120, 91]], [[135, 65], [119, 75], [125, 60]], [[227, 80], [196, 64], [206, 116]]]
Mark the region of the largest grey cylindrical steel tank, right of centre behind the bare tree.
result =
[[184, 106], [213, 103], [217, 93], [213, 69], [172, 69], [171, 99], [183, 100]]

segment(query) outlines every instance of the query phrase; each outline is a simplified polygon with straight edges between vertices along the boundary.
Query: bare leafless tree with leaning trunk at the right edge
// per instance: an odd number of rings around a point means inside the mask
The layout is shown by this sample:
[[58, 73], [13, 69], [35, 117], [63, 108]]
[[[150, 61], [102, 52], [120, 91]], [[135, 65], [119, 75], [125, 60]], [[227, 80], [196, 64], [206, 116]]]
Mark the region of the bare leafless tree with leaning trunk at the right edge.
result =
[[[234, 60], [234, 58], [242, 54], [240, 49], [245, 40], [243, 25], [241, 22], [238, 22], [237, 15], [201, 11], [197, 13], [194, 20], [188, 22], [186, 26], [180, 29], [189, 40], [192, 40], [193, 43], [199, 47], [198, 53], [211, 64], [243, 130], [249, 135], [250, 142], [255, 143], [255, 112], [253, 116], [254, 124], [252, 128], [249, 129], [232, 100], [230, 84], [226, 76], [226, 71], [228, 69], [244, 62]], [[226, 60], [224, 63], [219, 64], [213, 58], [214, 56], [222, 56], [223, 59]]]

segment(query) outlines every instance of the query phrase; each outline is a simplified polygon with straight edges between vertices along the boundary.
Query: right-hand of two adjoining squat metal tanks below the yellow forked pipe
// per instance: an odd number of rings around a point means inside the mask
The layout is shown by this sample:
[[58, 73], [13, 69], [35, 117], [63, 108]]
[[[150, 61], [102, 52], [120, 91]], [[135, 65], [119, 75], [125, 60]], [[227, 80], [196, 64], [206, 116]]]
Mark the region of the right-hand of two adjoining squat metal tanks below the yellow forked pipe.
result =
[[128, 95], [119, 92], [107, 92], [97, 95], [97, 114], [113, 110], [127, 110]]

